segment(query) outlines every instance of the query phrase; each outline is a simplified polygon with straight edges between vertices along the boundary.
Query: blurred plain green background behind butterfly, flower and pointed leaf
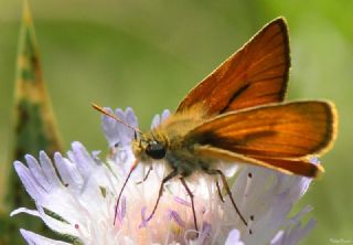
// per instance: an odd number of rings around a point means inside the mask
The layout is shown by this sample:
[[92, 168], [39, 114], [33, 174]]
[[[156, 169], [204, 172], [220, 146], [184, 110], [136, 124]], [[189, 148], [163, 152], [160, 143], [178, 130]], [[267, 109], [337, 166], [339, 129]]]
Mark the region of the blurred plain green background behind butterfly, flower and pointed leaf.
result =
[[[289, 99], [325, 98], [340, 114], [334, 149], [322, 158], [325, 174], [299, 206], [318, 221], [303, 244], [353, 243], [353, 1], [30, 1], [44, 79], [65, 150], [74, 140], [105, 149], [100, 117], [89, 104], [131, 106], [142, 128], [175, 108], [190, 88], [265, 23], [287, 18], [292, 68]], [[22, 1], [0, 0], [0, 200]], [[0, 203], [0, 210], [7, 206]]]

